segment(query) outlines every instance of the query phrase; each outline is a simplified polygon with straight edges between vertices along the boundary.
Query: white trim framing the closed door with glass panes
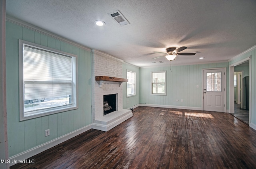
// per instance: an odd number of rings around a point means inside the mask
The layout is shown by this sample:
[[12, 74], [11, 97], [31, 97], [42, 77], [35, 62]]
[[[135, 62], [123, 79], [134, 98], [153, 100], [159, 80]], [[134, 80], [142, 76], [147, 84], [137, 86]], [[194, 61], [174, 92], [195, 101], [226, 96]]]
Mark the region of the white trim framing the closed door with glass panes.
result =
[[[204, 110], [204, 71], [205, 70], [216, 70], [224, 69], [224, 112], [227, 112], [227, 68], [226, 67], [216, 67], [216, 68], [203, 68], [202, 69], [202, 109]], [[233, 77], [234, 78], [234, 77]], [[234, 84], [233, 84], [234, 85]]]

